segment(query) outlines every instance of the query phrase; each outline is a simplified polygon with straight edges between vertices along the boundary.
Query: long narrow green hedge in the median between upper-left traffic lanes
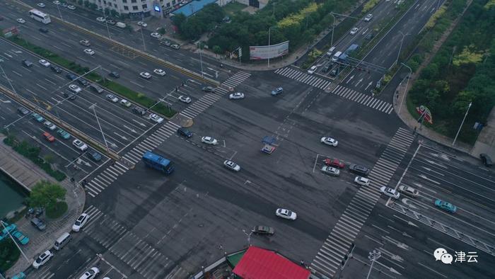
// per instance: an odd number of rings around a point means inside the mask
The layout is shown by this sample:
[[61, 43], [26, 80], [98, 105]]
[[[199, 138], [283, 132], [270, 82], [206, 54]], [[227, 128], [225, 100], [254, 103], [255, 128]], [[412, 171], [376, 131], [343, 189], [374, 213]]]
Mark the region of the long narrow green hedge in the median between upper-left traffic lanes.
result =
[[[21, 37], [13, 36], [9, 38], [9, 40], [15, 42], [17, 45], [20, 45], [21, 47], [25, 47], [28, 50], [35, 52], [37, 55], [50, 59], [55, 64], [59, 64], [60, 66], [66, 69], [70, 69], [72, 72], [76, 72], [77, 74], [85, 74], [86, 72], [89, 72], [88, 67], [83, 67], [80, 64], [76, 64], [75, 62], [69, 61], [64, 57], [61, 57], [54, 52], [51, 52], [50, 50], [46, 50], [45, 48], [38, 47], [37, 45], [33, 45], [32, 43], [28, 42], [27, 40]], [[100, 74], [96, 72], [91, 72], [89, 74], [86, 74], [86, 76], [84, 77], [91, 81], [98, 82], [98, 84], [101, 84], [102, 86], [107, 87], [108, 89], [114, 91], [115, 93], [119, 93], [121, 96], [125, 96], [130, 101], [139, 103], [139, 105], [144, 106], [146, 108], [150, 108], [151, 106], [153, 106], [153, 104], [156, 103], [155, 100], [145, 96], [143, 93], [136, 92], [132, 89], [127, 88], [126, 86], [123, 86], [122, 84], [117, 84], [115, 81], [108, 81], [107, 79], [103, 78], [103, 76], [100, 76]], [[165, 115], [165, 117], [167, 118], [171, 118], [173, 117], [173, 115], [175, 115], [175, 113], [177, 113], [175, 110], [168, 108], [163, 103], [158, 103], [158, 105], [153, 107], [153, 110], [156, 111], [157, 113], [160, 113], [161, 115]]]

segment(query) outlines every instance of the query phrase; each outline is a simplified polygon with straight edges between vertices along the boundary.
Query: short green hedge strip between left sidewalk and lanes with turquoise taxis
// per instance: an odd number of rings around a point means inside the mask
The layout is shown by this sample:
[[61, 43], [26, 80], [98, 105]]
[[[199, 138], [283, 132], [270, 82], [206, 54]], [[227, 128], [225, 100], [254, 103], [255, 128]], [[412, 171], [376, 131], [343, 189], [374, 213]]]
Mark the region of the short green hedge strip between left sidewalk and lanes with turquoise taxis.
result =
[[65, 173], [52, 169], [50, 164], [40, 158], [40, 147], [35, 147], [25, 140], [19, 142], [13, 135], [8, 135], [8, 137], [4, 139], [4, 143], [11, 146], [18, 154], [21, 154], [33, 161], [33, 163], [57, 181], [63, 181], [66, 178]]

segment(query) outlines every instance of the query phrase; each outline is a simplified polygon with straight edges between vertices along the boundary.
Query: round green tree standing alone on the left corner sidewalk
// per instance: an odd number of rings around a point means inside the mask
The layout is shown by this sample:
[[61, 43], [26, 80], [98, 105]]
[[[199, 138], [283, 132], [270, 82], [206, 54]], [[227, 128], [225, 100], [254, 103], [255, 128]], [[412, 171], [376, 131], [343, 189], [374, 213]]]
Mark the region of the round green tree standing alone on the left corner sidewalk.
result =
[[50, 181], [39, 181], [31, 190], [28, 198], [31, 207], [45, 207], [56, 210], [59, 201], [65, 200], [67, 190]]

